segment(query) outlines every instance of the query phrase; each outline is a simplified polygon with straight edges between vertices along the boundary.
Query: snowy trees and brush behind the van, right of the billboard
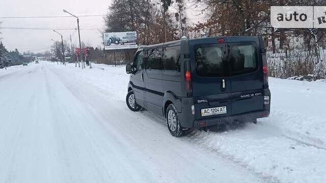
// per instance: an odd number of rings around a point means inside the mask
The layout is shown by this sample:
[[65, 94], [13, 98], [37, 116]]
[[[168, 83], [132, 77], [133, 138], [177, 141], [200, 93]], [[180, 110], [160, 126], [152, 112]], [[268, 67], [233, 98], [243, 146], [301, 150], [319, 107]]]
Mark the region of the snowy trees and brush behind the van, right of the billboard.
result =
[[[186, 6], [187, 5], [187, 6]], [[189, 5], [204, 17], [188, 20]], [[274, 28], [271, 6], [326, 6], [322, 0], [114, 0], [103, 32], [136, 31], [140, 45], [203, 36], [261, 36], [271, 76], [315, 74], [326, 77], [325, 28]]]

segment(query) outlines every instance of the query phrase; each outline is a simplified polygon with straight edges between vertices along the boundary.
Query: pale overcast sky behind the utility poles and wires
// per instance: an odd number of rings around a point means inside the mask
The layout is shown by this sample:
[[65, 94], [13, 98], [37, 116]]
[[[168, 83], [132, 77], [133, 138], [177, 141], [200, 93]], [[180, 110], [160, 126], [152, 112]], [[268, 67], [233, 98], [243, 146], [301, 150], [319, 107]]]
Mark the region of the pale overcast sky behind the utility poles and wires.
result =
[[[25, 16], [66, 16], [62, 10], [66, 9], [75, 15], [104, 15], [111, 4], [111, 0], [96, 1], [67, 1], [67, 0], [1, 0], [0, 17], [25, 17]], [[173, 11], [173, 10], [172, 10]], [[198, 21], [195, 15], [198, 13], [195, 9], [187, 11], [188, 16], [194, 21]], [[0, 31], [2, 41], [7, 49], [17, 48], [19, 51], [43, 52], [46, 47], [52, 45], [53, 40], [61, 41], [61, 37], [52, 31], [56, 28], [74, 28], [77, 25], [76, 18], [0, 18], [2, 21]], [[103, 26], [103, 18], [80, 17], [79, 18], [80, 39], [91, 43], [94, 47], [101, 45], [102, 38], [98, 31]], [[31, 27], [31, 28], [49, 28], [49, 30], [35, 29], [6, 29], [6, 27]], [[83, 30], [83, 28], [93, 30]], [[69, 41], [71, 34], [73, 44], [78, 43], [78, 32], [74, 30], [60, 30], [63, 39]], [[48, 48], [49, 50], [49, 48]]]

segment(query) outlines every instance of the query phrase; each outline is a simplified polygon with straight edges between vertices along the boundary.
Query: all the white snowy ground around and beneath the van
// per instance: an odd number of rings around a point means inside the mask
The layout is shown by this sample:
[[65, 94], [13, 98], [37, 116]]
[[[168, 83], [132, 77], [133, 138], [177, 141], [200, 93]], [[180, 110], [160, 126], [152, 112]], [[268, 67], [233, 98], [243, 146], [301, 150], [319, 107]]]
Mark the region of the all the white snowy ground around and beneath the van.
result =
[[174, 138], [93, 67], [0, 70], [0, 182], [326, 182], [326, 82], [269, 78], [270, 117]]

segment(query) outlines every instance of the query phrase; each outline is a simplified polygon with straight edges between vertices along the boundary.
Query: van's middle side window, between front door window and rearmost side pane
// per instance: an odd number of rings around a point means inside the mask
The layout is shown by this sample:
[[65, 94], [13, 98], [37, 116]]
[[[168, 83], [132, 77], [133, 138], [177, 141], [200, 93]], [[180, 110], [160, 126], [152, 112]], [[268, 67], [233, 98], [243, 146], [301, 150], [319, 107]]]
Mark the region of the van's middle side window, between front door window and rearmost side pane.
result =
[[161, 70], [160, 67], [161, 58], [162, 58], [162, 48], [148, 50], [145, 69]]

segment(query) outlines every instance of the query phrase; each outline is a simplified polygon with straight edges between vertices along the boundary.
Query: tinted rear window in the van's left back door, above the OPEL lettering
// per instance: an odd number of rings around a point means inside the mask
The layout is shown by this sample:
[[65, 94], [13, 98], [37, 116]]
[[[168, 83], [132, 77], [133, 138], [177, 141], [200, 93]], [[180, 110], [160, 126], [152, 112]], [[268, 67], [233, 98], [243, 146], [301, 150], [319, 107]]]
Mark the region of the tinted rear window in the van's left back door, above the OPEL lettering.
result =
[[195, 46], [196, 72], [199, 76], [226, 76], [223, 52], [218, 44]]

